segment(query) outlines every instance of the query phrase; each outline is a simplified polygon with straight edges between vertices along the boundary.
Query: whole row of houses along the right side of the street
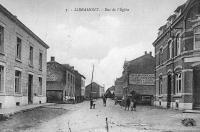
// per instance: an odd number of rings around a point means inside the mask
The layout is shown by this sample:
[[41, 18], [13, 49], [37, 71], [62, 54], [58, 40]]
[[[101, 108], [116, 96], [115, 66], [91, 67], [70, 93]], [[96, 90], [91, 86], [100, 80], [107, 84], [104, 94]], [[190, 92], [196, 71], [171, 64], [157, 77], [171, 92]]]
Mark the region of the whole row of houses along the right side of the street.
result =
[[115, 95], [122, 98], [134, 90], [144, 95], [141, 100], [154, 97], [156, 106], [200, 109], [200, 1], [177, 7], [153, 46], [155, 58], [145, 54], [124, 63]]

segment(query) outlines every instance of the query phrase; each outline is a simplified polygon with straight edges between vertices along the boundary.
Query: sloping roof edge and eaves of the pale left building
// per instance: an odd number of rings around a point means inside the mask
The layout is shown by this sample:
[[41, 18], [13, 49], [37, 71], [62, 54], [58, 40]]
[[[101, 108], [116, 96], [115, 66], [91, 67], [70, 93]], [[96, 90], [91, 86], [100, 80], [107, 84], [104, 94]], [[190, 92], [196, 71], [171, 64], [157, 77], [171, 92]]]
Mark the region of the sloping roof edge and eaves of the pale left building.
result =
[[28, 27], [26, 27], [16, 16], [14, 16], [11, 12], [9, 12], [5, 7], [0, 4], [0, 12], [6, 15], [10, 20], [12, 20], [16, 25], [22, 28], [25, 32], [27, 32], [30, 36], [36, 39], [42, 46], [45, 48], [49, 48], [49, 46], [41, 40], [36, 34], [34, 34]]

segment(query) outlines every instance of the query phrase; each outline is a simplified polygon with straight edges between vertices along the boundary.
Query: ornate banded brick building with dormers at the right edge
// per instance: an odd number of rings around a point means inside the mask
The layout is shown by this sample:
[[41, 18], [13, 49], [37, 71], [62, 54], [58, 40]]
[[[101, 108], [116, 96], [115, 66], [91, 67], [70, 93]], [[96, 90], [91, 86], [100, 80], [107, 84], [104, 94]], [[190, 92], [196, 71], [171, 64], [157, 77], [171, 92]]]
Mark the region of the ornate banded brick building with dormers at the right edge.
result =
[[174, 109], [200, 106], [200, 1], [187, 0], [159, 28], [155, 105]]

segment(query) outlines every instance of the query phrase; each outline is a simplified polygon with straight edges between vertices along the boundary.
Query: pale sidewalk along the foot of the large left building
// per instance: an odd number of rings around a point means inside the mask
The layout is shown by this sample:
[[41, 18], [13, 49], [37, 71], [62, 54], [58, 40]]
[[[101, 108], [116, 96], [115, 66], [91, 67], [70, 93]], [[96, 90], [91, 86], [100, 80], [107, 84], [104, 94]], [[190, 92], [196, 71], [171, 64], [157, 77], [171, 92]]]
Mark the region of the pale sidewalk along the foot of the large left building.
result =
[[21, 111], [26, 111], [26, 110], [34, 109], [37, 107], [47, 106], [47, 105], [52, 105], [52, 104], [54, 104], [54, 103], [30, 104], [30, 105], [24, 105], [24, 106], [17, 106], [14, 108], [0, 109], [0, 118], [3, 116], [13, 115], [13, 114], [21, 112]]

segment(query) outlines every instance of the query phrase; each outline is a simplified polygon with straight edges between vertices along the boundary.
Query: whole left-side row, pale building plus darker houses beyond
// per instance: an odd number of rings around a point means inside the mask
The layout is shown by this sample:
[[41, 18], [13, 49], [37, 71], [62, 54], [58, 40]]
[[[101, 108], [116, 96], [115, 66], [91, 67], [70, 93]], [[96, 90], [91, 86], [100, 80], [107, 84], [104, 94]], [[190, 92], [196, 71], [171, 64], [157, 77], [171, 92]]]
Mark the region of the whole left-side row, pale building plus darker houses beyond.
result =
[[48, 48], [0, 5], [0, 109], [83, 99], [85, 77], [53, 57], [47, 63]]

